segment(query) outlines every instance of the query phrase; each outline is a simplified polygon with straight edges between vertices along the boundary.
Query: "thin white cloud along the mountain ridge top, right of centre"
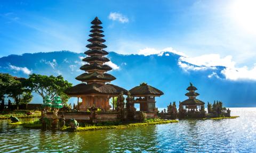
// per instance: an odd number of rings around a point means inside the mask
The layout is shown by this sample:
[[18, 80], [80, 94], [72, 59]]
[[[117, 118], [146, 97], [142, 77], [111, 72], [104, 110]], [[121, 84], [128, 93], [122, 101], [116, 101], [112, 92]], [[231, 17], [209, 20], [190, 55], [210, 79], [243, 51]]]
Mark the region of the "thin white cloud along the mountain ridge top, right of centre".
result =
[[[186, 56], [186, 54], [184, 54], [182, 52], [178, 52], [177, 50], [174, 50], [172, 47], [168, 47], [168, 48], [164, 48], [164, 49], [155, 49], [155, 48], [146, 47], [145, 49], [140, 49], [138, 54], [139, 55], [145, 55], [145, 56], [157, 54], [158, 56], [163, 56], [163, 54], [165, 52], [178, 54], [180, 56]], [[170, 55], [169, 53], [165, 54], [165, 56], [169, 56], [169, 55]]]

